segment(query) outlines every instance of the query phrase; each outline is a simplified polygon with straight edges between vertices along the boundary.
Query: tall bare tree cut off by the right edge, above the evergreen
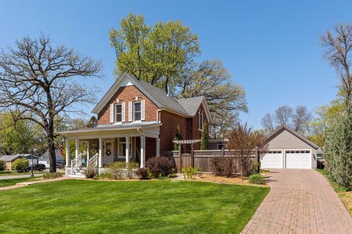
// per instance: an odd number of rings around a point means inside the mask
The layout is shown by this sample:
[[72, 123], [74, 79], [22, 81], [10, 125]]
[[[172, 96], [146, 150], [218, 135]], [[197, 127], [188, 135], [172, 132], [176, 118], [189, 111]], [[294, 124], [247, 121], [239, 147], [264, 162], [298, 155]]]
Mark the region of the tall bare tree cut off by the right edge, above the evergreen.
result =
[[338, 23], [333, 27], [334, 32], [327, 31], [320, 36], [320, 45], [325, 47], [324, 58], [336, 69], [340, 78], [340, 95], [344, 97], [347, 111], [351, 111], [352, 74], [352, 25]]

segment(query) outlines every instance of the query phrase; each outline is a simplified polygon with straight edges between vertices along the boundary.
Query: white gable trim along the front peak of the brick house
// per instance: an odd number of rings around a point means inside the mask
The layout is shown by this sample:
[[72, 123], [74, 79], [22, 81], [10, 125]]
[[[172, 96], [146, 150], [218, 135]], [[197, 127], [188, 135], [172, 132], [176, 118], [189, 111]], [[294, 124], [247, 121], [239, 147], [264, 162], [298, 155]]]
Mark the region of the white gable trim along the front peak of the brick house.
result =
[[128, 73], [123, 73], [115, 81], [115, 83], [113, 83], [113, 85], [110, 87], [109, 91], [107, 91], [107, 93], [105, 93], [104, 97], [102, 97], [100, 102], [98, 102], [96, 107], [92, 110], [92, 113], [95, 113], [95, 114], [100, 113], [102, 108], [104, 108], [104, 106], [106, 106], [108, 104], [109, 100], [111, 100], [111, 97], [113, 97], [113, 95], [118, 91], [118, 89], [120, 89], [120, 87], [131, 86], [131, 85], [136, 86], [137, 89], [139, 89], [144, 95], [146, 95], [146, 97], [148, 97], [149, 100], [151, 100], [155, 105], [157, 105], [157, 107], [159, 107], [159, 108], [162, 107], [162, 105], [159, 102], [157, 102], [157, 100], [155, 100], [155, 98], [152, 95], [150, 95], [148, 92], [146, 92], [146, 90], [143, 89], [143, 87], [140, 86], [140, 84], [138, 84], [138, 81], [135, 78], [133, 78]]

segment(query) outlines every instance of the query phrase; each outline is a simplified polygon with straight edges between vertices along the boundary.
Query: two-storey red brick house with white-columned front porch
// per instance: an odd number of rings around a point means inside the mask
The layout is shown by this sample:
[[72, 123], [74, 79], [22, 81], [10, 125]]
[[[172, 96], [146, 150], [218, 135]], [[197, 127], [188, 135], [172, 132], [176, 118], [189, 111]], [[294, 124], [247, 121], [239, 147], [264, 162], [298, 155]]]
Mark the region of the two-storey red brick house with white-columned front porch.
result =
[[[98, 115], [96, 128], [60, 132], [67, 141], [68, 174], [85, 163], [102, 168], [113, 161], [134, 161], [144, 167], [148, 158], [173, 150], [177, 126], [183, 139], [201, 139], [204, 124], [211, 121], [203, 96], [177, 100], [129, 73], [115, 81], [92, 112]], [[72, 165], [70, 140], [76, 143]], [[195, 144], [195, 150], [199, 147]]]

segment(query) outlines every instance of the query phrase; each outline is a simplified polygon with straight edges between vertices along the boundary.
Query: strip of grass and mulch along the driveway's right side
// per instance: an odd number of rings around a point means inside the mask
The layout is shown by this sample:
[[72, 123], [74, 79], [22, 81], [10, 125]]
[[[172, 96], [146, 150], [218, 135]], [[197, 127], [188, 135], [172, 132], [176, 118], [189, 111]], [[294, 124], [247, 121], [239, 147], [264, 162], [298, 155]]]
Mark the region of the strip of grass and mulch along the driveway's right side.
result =
[[329, 180], [329, 183], [333, 186], [333, 189], [336, 191], [336, 194], [338, 194], [338, 197], [344, 204], [344, 207], [346, 207], [347, 211], [349, 211], [350, 215], [352, 216], [352, 191], [350, 188], [343, 187], [338, 185], [335, 181], [333, 181], [330, 177], [329, 174], [327, 174], [327, 171], [325, 169], [316, 169], [317, 172], [322, 174]]

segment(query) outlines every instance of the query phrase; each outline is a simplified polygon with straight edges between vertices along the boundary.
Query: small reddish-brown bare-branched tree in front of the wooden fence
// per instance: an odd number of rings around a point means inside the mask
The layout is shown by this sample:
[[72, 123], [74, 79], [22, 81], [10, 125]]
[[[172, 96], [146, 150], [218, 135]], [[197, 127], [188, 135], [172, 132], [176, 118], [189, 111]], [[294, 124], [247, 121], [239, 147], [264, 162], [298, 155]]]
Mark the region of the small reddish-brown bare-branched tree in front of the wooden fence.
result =
[[243, 174], [248, 176], [252, 169], [250, 156], [255, 154], [256, 148], [265, 148], [265, 139], [263, 139], [263, 134], [253, 132], [247, 124], [239, 123], [230, 131], [228, 148], [239, 162], [243, 179]]

